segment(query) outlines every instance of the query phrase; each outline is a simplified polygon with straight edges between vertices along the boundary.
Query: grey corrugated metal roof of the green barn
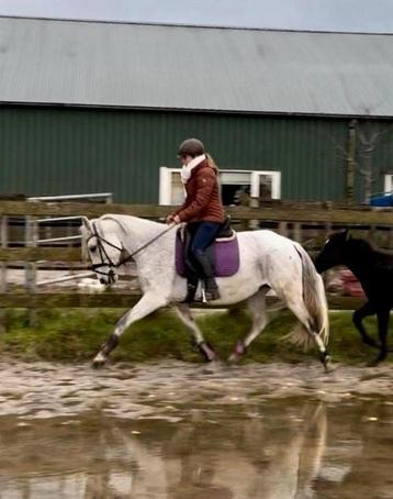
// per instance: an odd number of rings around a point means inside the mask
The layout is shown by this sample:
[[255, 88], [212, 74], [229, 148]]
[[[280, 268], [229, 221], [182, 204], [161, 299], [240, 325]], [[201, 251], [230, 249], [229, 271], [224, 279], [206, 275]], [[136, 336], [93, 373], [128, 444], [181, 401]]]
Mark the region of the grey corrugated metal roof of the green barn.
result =
[[0, 18], [0, 101], [393, 117], [393, 36]]

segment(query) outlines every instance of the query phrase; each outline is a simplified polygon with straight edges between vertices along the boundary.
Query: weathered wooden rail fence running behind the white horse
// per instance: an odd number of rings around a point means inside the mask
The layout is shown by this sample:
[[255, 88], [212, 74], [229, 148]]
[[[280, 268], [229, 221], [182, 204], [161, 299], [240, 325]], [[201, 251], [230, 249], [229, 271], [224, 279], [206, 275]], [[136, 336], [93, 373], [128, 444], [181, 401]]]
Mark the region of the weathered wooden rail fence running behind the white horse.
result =
[[[139, 298], [138, 292], [43, 292], [36, 287], [37, 265], [78, 265], [82, 268], [80, 248], [50, 244], [42, 246], [37, 220], [46, 217], [97, 218], [105, 213], [132, 214], [135, 217], [164, 219], [172, 207], [137, 204], [90, 204], [90, 203], [43, 203], [0, 201], [0, 308], [47, 308], [47, 307], [132, 307]], [[393, 248], [393, 210], [371, 207], [348, 207], [332, 203], [265, 202], [256, 208], [234, 207], [227, 209], [237, 230], [270, 228], [304, 244], [316, 252], [326, 235], [335, 229], [350, 228], [362, 236], [371, 236], [378, 244]], [[23, 241], [14, 245], [10, 236], [12, 220], [23, 220]], [[46, 229], [47, 230], [47, 229]], [[76, 228], [75, 228], [76, 230]], [[77, 233], [77, 232], [76, 232]], [[69, 234], [69, 228], [67, 229]], [[61, 244], [61, 243], [60, 243]], [[40, 264], [38, 264], [40, 263]], [[15, 266], [25, 269], [24, 285], [10, 289], [8, 273]], [[11, 269], [10, 269], [11, 267]], [[353, 309], [359, 299], [328, 297], [333, 309]]]

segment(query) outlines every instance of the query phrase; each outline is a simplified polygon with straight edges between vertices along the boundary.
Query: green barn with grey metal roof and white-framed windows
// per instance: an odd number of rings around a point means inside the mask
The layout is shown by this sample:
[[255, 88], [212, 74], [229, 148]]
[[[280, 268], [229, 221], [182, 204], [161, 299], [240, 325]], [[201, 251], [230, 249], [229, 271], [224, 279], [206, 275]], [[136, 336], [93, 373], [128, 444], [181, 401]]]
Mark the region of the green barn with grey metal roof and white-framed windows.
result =
[[343, 201], [352, 170], [362, 201], [393, 188], [392, 60], [390, 34], [0, 18], [0, 192], [177, 203], [196, 136], [227, 204]]

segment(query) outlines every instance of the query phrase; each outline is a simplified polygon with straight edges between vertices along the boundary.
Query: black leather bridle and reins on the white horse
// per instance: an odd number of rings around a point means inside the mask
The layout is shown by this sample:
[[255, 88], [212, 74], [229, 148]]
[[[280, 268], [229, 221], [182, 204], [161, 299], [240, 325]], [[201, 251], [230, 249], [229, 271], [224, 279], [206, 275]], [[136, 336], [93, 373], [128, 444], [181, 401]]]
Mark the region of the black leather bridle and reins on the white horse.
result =
[[[93, 270], [96, 274], [99, 274], [101, 276], [108, 277], [109, 284], [112, 285], [115, 281], [115, 279], [114, 279], [114, 277], [115, 277], [114, 269], [115, 268], [119, 268], [122, 265], [124, 265], [125, 263], [127, 263], [130, 259], [132, 259], [134, 257], [134, 255], [136, 255], [137, 253], [142, 252], [142, 250], [145, 250], [147, 246], [149, 246], [156, 240], [161, 237], [161, 235], [166, 234], [168, 231], [173, 229], [173, 226], [176, 226], [175, 223], [170, 224], [165, 231], [160, 232], [158, 235], [153, 237], [153, 240], [148, 241], [146, 244], [144, 244], [143, 246], [138, 247], [135, 252], [131, 253], [130, 255], [125, 256], [124, 258], [120, 258], [119, 262], [115, 264], [114, 262], [112, 262], [111, 257], [106, 253], [105, 247], [104, 247], [104, 245], [102, 243], [105, 243], [109, 246], [113, 247], [114, 250], [117, 250], [120, 252], [120, 254], [122, 254], [124, 248], [123, 247], [119, 247], [115, 244], [111, 243], [110, 241], [105, 240], [105, 237], [102, 237], [102, 235], [100, 235], [98, 233], [98, 231], [97, 231], [96, 223], [92, 223], [92, 228], [93, 228], [92, 234], [90, 235], [90, 237], [87, 239], [86, 244], [88, 244], [89, 241], [92, 237], [96, 237], [96, 240], [97, 240], [97, 248], [98, 248], [99, 254], [100, 254], [101, 263], [92, 264], [92, 265], [90, 265], [89, 268], [91, 270]], [[109, 270], [108, 271], [100, 270], [101, 267], [109, 267]]]

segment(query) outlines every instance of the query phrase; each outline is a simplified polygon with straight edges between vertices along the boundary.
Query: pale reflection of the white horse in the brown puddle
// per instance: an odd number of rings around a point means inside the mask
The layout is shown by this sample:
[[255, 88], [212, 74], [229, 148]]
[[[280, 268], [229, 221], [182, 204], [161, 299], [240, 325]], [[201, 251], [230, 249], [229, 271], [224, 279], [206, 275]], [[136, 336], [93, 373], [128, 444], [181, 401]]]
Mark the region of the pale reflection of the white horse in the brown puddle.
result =
[[193, 425], [178, 425], [162, 448], [168, 496], [311, 499], [326, 452], [325, 406], [306, 402], [294, 413], [270, 402], [262, 411], [263, 421], [238, 418], [212, 426], [201, 414]]

